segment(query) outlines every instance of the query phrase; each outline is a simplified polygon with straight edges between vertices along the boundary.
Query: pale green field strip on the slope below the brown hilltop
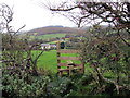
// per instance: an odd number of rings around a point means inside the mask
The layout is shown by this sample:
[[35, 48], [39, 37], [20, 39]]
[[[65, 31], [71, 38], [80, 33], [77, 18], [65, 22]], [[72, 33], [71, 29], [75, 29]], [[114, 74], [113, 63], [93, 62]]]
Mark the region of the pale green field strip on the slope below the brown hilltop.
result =
[[51, 38], [61, 38], [65, 37], [66, 34], [47, 34], [47, 35], [40, 35], [40, 36], [30, 36], [31, 38], [38, 38], [38, 39], [51, 39]]

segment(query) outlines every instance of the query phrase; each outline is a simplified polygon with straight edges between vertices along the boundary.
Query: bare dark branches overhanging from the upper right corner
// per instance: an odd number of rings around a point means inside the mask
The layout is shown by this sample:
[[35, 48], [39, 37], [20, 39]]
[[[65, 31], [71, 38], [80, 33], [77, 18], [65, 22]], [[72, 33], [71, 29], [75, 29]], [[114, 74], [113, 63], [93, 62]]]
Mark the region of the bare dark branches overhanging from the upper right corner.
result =
[[47, 5], [51, 11], [67, 16], [75, 22], [78, 27], [86, 24], [106, 23], [118, 29], [118, 36], [128, 46], [130, 44], [120, 35], [121, 29], [126, 29], [130, 35], [130, 2], [96, 2], [93, 0], [76, 0], [58, 5]]

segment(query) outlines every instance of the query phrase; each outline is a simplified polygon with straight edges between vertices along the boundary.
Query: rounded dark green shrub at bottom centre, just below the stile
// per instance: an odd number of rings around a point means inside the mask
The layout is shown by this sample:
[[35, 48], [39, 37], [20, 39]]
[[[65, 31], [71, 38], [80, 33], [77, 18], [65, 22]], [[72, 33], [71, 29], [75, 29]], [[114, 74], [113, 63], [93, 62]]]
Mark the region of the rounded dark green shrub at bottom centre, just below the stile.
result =
[[48, 85], [48, 93], [51, 96], [65, 97], [75, 88], [68, 77], [56, 77]]

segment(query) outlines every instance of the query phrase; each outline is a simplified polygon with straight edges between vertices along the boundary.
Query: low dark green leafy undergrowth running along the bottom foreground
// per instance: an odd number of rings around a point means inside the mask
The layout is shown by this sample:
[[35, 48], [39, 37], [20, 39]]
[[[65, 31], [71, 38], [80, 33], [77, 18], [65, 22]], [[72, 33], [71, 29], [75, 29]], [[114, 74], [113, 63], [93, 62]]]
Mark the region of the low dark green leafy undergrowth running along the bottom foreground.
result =
[[62, 97], [69, 96], [127, 96], [127, 88], [117, 94], [113, 83], [99, 84], [93, 74], [75, 75], [72, 77], [60, 76], [32, 76], [3, 74], [2, 93], [5, 98], [14, 97]]

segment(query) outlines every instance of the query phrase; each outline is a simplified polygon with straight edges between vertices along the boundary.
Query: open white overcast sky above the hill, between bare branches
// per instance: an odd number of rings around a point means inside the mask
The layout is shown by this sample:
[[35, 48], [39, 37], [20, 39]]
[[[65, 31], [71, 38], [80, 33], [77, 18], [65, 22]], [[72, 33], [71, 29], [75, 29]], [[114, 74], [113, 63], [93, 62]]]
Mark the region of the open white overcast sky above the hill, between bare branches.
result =
[[58, 14], [53, 15], [43, 4], [40, 4], [40, 2], [49, 3], [49, 1], [50, 3], [56, 3], [61, 0], [0, 0], [0, 3], [13, 7], [14, 16], [11, 25], [15, 29], [23, 25], [26, 25], [24, 30], [49, 25], [76, 26], [68, 19]]

